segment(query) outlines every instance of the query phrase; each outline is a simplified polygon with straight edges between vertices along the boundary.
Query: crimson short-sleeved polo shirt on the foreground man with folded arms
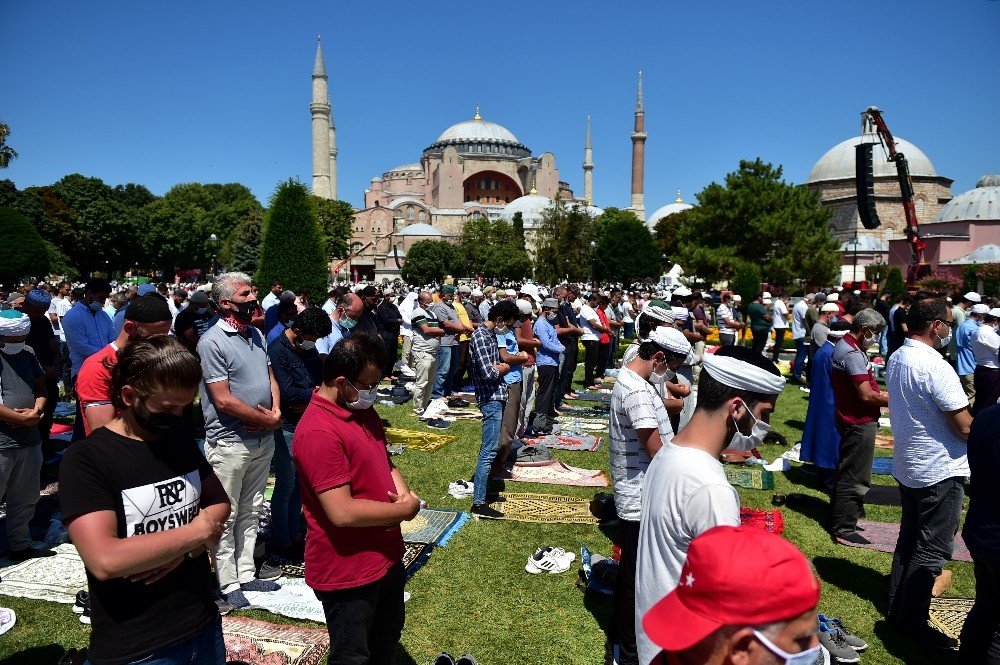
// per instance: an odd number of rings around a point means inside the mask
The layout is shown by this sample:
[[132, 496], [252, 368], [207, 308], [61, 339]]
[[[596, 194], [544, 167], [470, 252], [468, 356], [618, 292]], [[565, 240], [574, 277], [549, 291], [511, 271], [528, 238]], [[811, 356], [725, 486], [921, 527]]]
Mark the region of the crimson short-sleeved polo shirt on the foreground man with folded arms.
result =
[[355, 499], [389, 503], [395, 492], [385, 449], [385, 429], [375, 409], [352, 411], [313, 393], [295, 428], [295, 466], [306, 538], [306, 584], [336, 591], [371, 584], [403, 559], [399, 526], [337, 527], [319, 495], [349, 484]]

